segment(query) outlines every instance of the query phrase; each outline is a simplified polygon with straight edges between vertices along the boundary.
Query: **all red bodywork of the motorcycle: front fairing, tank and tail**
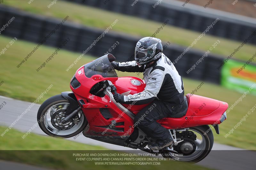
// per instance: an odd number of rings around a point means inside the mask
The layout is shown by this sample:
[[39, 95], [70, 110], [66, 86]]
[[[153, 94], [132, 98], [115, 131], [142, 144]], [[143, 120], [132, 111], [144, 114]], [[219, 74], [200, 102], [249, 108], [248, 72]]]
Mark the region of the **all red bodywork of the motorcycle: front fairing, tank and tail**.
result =
[[[104, 65], [103, 65], [104, 66]], [[89, 71], [88, 71], [89, 72]], [[89, 77], [89, 76], [88, 76]], [[85, 76], [84, 66], [75, 74], [80, 86], [71, 90], [74, 92], [82, 111], [89, 123], [86, 134], [91, 136], [123, 136], [133, 132], [133, 119], [124, 113], [114, 102], [110, 102], [110, 96], [95, 96], [90, 93], [92, 87], [101, 81], [111, 81], [116, 86], [117, 93], [129, 95], [142, 92], [145, 82], [137, 77], [103, 77], [100, 74]], [[73, 78], [71, 79], [73, 80]], [[227, 110], [228, 104], [208, 97], [187, 94], [188, 111], [181, 118], [164, 118], [158, 120], [165, 128], [179, 129], [201, 125], [220, 124], [220, 117]], [[112, 99], [114, 100], [114, 99]], [[123, 104], [130, 112], [136, 115], [146, 105]], [[110, 114], [111, 118], [105, 119], [102, 112]], [[114, 121], [114, 124], [113, 124]], [[110, 125], [112, 128], [109, 128]]]

